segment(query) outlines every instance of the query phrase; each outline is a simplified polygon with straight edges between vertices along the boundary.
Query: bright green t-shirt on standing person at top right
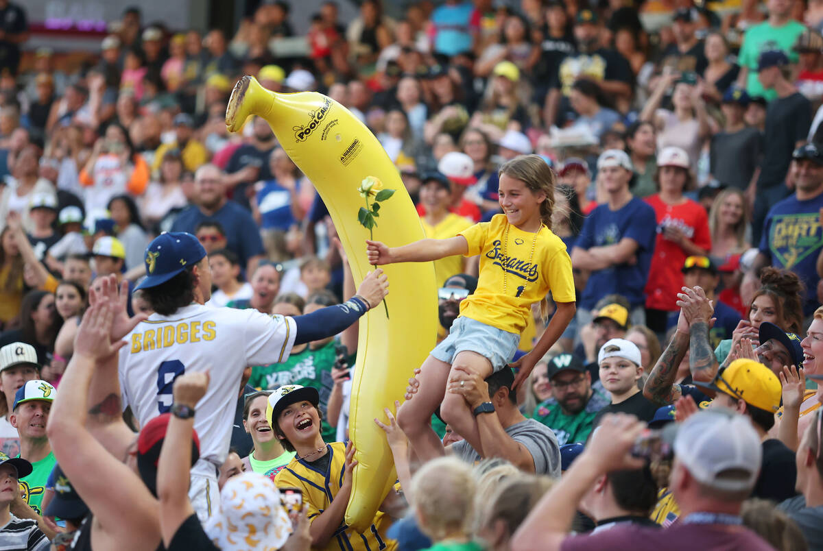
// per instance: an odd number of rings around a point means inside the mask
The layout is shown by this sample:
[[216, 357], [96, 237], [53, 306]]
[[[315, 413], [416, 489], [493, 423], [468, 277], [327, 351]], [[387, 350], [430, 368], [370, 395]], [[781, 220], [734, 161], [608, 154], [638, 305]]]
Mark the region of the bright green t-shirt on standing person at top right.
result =
[[760, 53], [769, 50], [782, 50], [792, 63], [797, 63], [797, 52], [793, 46], [797, 36], [805, 29], [806, 27], [797, 21], [788, 21], [781, 27], [773, 27], [769, 21], [763, 21], [746, 30], [738, 63], [741, 67], [749, 67], [746, 81], [746, 91], [749, 95], [762, 95], [770, 101], [777, 97], [777, 92], [763, 90], [763, 86], [757, 80], [757, 58], [760, 58]]

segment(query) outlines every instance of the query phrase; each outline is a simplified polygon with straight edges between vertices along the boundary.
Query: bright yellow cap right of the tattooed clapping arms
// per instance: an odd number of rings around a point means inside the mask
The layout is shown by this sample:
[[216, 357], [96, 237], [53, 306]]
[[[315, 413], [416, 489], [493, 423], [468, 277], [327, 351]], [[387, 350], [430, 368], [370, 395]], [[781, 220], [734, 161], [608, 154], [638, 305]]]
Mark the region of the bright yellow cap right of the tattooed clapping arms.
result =
[[695, 385], [723, 392], [759, 410], [774, 412], [780, 407], [780, 380], [770, 368], [753, 359], [736, 359], [714, 381], [695, 381]]

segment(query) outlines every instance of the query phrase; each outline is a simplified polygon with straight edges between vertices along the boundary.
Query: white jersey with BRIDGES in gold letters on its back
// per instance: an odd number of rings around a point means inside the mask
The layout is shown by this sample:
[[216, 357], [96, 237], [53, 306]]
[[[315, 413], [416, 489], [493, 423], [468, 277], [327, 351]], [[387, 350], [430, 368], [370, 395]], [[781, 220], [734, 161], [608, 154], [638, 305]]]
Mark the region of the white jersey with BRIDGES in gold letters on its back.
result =
[[120, 351], [123, 408], [131, 405], [145, 426], [170, 409], [174, 377], [208, 371], [211, 382], [194, 418], [201, 459], [192, 474], [214, 478], [215, 465], [222, 465], [229, 451], [244, 368], [288, 358], [296, 332], [291, 317], [253, 308], [191, 304], [171, 316], [151, 314], [126, 336], [128, 345]]

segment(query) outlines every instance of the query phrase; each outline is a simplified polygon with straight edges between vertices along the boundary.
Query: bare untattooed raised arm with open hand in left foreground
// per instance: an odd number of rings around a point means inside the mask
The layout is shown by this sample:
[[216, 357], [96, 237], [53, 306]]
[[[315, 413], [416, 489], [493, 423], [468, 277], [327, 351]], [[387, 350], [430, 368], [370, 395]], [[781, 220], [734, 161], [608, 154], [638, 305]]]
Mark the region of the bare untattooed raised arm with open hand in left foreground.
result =
[[[99, 373], [95, 364], [115, 357], [125, 344], [111, 344], [112, 322], [109, 303], [98, 302], [86, 310], [74, 355], [52, 405], [47, 433], [63, 472], [95, 513], [95, 522], [112, 539], [133, 539], [139, 534], [147, 543], [159, 544], [156, 500], [123, 463], [124, 456], [113, 456], [86, 428], [89, 386]], [[112, 488], [117, 488], [117, 492], [112, 493]]]

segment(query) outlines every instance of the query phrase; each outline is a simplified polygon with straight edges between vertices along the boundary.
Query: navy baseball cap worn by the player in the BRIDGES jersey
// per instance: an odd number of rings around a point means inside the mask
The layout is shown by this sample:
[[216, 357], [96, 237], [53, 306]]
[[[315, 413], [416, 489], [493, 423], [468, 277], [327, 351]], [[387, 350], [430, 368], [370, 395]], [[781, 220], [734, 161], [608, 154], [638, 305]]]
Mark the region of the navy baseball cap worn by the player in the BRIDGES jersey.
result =
[[198, 238], [186, 232], [163, 232], [146, 247], [146, 279], [135, 289], [156, 287], [206, 256]]

